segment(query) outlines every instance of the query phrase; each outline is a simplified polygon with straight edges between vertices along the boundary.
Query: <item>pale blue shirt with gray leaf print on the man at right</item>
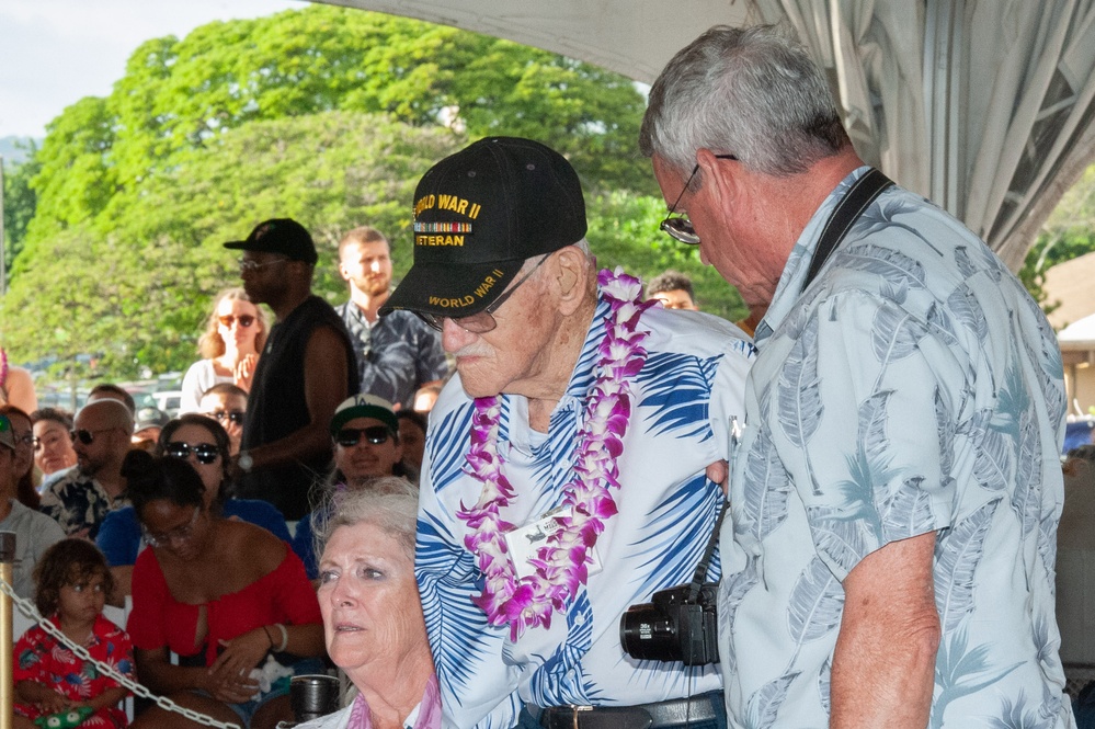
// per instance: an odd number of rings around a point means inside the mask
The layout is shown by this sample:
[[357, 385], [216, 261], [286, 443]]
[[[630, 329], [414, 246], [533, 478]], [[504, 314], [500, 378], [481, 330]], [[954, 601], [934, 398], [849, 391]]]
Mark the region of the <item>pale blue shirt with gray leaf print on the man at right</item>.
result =
[[936, 533], [931, 727], [1073, 726], [1053, 613], [1065, 397], [1037, 304], [972, 232], [891, 187], [800, 295], [815, 213], [764, 321], [723, 525], [732, 727], [828, 727], [842, 580]]

